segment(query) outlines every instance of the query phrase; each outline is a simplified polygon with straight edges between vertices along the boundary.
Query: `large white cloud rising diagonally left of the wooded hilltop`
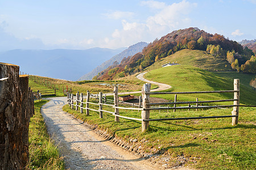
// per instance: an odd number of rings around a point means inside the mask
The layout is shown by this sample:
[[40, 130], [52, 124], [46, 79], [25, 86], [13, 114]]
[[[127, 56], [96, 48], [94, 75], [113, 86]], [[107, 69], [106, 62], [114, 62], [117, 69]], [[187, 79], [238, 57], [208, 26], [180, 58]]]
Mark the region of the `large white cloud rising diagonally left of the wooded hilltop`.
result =
[[102, 47], [117, 48], [138, 41], [151, 42], [175, 29], [191, 27], [189, 14], [197, 6], [196, 3], [185, 0], [171, 5], [158, 1], [142, 1], [141, 4], [156, 9], [155, 14], [148, 16], [145, 22], [129, 22], [123, 19], [122, 29], [115, 29], [108, 41], [100, 41]]

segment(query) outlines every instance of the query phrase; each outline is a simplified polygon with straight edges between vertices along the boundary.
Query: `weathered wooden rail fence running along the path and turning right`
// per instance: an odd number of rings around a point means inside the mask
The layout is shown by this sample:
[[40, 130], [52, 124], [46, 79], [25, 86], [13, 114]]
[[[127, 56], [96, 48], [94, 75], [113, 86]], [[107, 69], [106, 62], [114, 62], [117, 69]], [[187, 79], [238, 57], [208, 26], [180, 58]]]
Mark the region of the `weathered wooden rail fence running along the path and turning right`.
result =
[[[238, 124], [238, 112], [239, 112], [239, 102], [240, 102], [240, 87], [239, 87], [239, 79], [234, 79], [234, 90], [225, 90], [225, 91], [195, 91], [195, 92], [150, 92], [151, 84], [146, 83], [142, 87], [142, 108], [141, 108], [141, 100], [138, 108], [131, 107], [119, 107], [119, 103], [126, 103], [123, 101], [118, 101], [118, 87], [114, 87], [114, 100], [106, 99], [106, 96], [103, 97], [102, 92], [100, 92], [97, 95], [90, 94], [89, 91], [87, 91], [86, 94], [86, 101], [84, 101], [83, 94], [79, 95], [79, 92], [76, 94], [76, 99], [74, 99], [73, 94], [68, 93], [67, 94], [67, 101], [68, 105], [71, 106], [73, 109], [76, 108], [76, 111], [79, 111], [83, 113], [83, 110], [86, 110], [86, 115], [89, 116], [89, 111], [95, 111], [100, 113], [100, 118], [103, 117], [103, 112], [113, 114], [115, 116], [115, 121], [119, 122], [119, 117], [126, 118], [129, 120], [136, 120], [142, 122], [142, 131], [146, 131], [146, 129], [149, 126], [150, 121], [168, 121], [168, 120], [192, 120], [192, 119], [204, 119], [204, 118], [224, 118], [224, 117], [232, 117], [232, 125]], [[208, 101], [182, 101], [177, 102], [177, 94], [209, 94], [209, 93], [234, 93], [233, 99], [224, 99], [224, 100], [208, 100]], [[174, 102], [170, 103], [150, 103], [150, 95], [155, 94], [171, 94], [175, 95]], [[98, 103], [90, 102], [90, 97], [93, 97], [94, 99], [97, 99]], [[141, 98], [141, 97], [140, 97]], [[103, 100], [104, 99], [104, 102]], [[202, 103], [218, 103], [223, 101], [233, 101], [232, 105], [212, 105], [212, 106], [200, 106], [199, 104]], [[74, 104], [76, 102], [76, 104]], [[114, 103], [114, 104], [107, 104], [108, 102]], [[129, 103], [131, 104], [131, 103]], [[187, 107], [176, 107], [177, 104], [188, 104]], [[196, 104], [195, 107], [191, 107], [191, 104]], [[92, 109], [89, 108], [89, 105], [97, 105], [98, 109]], [[109, 107], [114, 108], [114, 112], [105, 111], [102, 109], [102, 105], [106, 105]], [[174, 105], [174, 107], [152, 107], [152, 105]], [[207, 117], [177, 117], [177, 118], [158, 118], [158, 119], [150, 119], [150, 111], [152, 110], [169, 110], [174, 109], [174, 112], [176, 109], [205, 109], [205, 108], [227, 108], [227, 107], [233, 107], [233, 111], [231, 115], [228, 116], [207, 116]], [[133, 118], [133, 117], [126, 117], [119, 115], [119, 109], [126, 109], [126, 110], [138, 110], [141, 111], [141, 118]]]

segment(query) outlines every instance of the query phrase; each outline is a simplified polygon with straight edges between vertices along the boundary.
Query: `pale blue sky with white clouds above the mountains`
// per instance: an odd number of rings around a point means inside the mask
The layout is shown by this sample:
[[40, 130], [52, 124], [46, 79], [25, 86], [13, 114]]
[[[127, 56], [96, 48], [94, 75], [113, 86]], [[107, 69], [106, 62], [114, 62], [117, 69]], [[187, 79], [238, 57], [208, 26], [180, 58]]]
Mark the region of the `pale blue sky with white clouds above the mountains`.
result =
[[256, 0], [0, 0], [0, 51], [117, 49], [189, 27], [256, 39]]

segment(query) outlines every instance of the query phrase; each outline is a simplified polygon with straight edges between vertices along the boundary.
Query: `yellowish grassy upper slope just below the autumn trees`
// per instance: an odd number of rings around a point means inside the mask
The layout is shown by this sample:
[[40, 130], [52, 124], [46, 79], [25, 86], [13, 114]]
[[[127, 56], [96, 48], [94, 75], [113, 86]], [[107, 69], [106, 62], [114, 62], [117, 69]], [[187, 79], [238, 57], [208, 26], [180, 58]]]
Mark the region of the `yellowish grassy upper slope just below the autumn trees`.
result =
[[[211, 54], [207, 54], [205, 51], [201, 50], [180, 50], [171, 56], [161, 59], [155, 62], [153, 65], [147, 67], [146, 71], [154, 70], [160, 68], [164, 63], [177, 62], [181, 65], [191, 65], [199, 67], [205, 70], [230, 70], [230, 63], [218, 57], [214, 57]], [[225, 67], [226, 65], [226, 67]]]

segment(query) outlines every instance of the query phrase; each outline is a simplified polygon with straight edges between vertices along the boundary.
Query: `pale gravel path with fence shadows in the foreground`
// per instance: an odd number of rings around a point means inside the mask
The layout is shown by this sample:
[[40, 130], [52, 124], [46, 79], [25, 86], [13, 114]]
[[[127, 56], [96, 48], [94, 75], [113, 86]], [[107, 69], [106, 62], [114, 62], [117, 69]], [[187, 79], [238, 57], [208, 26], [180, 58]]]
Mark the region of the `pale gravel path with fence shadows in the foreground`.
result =
[[[70, 169], [159, 169], [147, 160], [137, 157], [121, 147], [99, 137], [62, 111], [66, 97], [49, 98], [41, 113], [48, 133], [56, 141]], [[157, 168], [158, 167], [158, 168]]]

